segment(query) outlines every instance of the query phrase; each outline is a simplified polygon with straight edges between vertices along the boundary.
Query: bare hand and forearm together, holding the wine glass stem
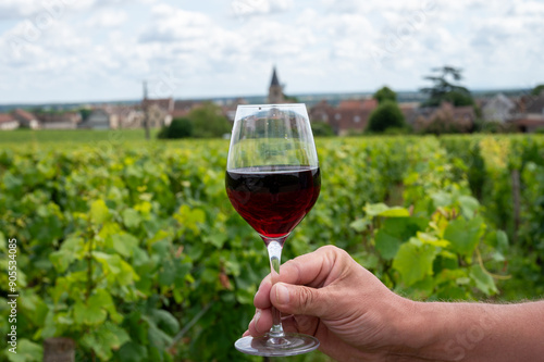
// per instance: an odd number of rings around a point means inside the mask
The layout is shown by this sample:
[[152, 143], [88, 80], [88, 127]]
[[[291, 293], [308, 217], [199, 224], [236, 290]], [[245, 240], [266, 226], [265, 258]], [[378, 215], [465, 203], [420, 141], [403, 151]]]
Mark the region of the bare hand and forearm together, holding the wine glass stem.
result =
[[323, 247], [267, 276], [244, 336], [272, 326], [316, 336], [337, 361], [542, 361], [544, 302], [415, 302], [399, 297], [336, 247]]

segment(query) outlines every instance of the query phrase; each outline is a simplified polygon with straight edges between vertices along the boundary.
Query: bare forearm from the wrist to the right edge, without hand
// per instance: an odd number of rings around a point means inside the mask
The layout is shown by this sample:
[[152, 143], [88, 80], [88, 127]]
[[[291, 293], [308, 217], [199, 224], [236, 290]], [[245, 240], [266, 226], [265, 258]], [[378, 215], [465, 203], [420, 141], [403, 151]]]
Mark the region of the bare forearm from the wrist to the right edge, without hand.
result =
[[544, 358], [544, 301], [411, 302], [408, 308], [409, 316], [400, 323], [399, 336], [406, 339], [396, 351], [399, 360], [506, 362]]

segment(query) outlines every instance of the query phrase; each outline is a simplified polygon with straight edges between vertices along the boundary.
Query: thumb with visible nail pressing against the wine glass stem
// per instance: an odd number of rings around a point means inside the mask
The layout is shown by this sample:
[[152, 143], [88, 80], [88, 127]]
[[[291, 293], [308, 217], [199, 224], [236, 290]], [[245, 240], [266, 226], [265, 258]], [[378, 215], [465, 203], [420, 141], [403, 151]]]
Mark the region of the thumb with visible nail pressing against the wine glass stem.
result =
[[322, 317], [330, 312], [331, 298], [323, 289], [276, 283], [270, 290], [270, 301], [287, 314]]

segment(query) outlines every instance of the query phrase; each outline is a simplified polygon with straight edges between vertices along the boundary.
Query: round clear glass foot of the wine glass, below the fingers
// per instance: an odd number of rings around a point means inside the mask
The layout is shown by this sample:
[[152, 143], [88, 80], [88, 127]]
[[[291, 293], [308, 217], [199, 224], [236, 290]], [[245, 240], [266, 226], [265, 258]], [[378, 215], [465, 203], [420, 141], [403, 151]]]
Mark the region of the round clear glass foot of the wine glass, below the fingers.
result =
[[319, 347], [319, 340], [308, 335], [286, 333], [284, 337], [243, 337], [234, 347], [247, 354], [281, 357], [311, 352]]

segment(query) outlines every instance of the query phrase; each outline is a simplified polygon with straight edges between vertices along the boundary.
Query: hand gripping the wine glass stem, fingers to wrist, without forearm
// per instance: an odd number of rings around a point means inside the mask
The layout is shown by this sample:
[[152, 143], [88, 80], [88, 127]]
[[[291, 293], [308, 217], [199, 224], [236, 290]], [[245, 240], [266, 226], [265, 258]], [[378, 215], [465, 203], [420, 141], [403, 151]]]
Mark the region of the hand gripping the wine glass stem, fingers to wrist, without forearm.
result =
[[320, 350], [338, 361], [382, 361], [397, 355], [398, 328], [410, 301], [385, 287], [347, 252], [323, 247], [281, 266], [280, 279], [267, 276], [255, 296], [257, 308], [244, 336], [272, 326], [272, 304], [286, 332], [317, 337]]

